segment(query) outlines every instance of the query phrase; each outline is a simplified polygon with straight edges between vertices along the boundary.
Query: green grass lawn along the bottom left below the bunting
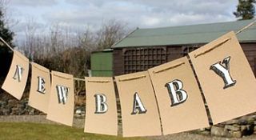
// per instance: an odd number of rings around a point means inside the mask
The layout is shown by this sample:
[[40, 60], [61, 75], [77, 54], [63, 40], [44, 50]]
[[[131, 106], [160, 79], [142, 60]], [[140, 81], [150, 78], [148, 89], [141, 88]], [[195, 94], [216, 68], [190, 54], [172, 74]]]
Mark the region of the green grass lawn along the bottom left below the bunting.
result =
[[69, 126], [28, 122], [0, 122], [0, 140], [146, 140], [100, 134], [86, 134], [83, 129]]

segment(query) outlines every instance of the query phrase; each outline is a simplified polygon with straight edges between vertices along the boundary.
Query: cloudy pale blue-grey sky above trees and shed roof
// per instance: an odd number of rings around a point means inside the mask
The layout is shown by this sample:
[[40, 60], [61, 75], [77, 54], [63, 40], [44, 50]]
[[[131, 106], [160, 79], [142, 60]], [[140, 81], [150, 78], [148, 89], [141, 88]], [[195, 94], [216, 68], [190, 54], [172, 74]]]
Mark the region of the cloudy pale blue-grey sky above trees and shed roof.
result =
[[38, 29], [55, 23], [97, 29], [116, 19], [130, 28], [181, 26], [234, 21], [237, 0], [10, 0], [8, 13], [18, 21], [16, 34], [33, 21]]

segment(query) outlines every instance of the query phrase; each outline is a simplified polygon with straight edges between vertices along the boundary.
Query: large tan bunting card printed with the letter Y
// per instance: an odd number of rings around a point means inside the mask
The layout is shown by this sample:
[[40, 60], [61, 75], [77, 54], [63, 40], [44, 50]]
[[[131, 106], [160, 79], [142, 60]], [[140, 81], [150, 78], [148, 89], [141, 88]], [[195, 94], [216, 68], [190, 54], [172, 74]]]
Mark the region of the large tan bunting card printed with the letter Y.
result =
[[256, 81], [234, 32], [189, 55], [214, 124], [256, 111]]

